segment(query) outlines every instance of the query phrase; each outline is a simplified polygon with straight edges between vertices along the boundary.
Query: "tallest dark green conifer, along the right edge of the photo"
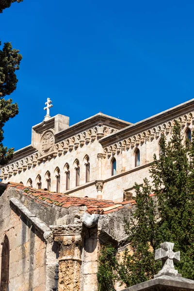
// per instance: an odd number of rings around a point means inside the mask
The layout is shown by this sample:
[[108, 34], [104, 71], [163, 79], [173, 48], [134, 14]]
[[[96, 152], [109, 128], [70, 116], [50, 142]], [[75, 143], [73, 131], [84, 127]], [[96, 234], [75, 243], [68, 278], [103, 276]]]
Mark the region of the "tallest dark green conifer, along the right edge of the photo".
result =
[[185, 141], [178, 121], [170, 142], [162, 136], [161, 159], [154, 156], [150, 173], [158, 199], [159, 242], [175, 242], [179, 273], [194, 279], [194, 134], [192, 143]]

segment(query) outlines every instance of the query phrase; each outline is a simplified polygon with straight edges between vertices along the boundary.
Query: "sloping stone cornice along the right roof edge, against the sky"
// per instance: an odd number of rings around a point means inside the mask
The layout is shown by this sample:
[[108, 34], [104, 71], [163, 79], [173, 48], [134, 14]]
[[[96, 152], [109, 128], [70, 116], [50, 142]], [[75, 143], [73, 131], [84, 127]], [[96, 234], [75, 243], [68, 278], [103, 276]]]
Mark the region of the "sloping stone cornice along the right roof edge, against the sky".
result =
[[153, 115], [149, 118], [146, 118], [142, 121], [129, 125], [124, 129], [120, 129], [109, 136], [101, 138], [99, 143], [102, 146], [108, 146], [115, 142], [118, 142], [121, 139], [129, 137], [129, 135], [135, 135], [141, 131], [145, 131], [152, 127], [156, 127], [161, 123], [168, 122], [169, 120], [175, 119], [180, 115], [184, 115], [194, 110], [194, 99], [191, 99], [185, 103], [179, 104], [173, 108], [165, 110], [161, 113]]

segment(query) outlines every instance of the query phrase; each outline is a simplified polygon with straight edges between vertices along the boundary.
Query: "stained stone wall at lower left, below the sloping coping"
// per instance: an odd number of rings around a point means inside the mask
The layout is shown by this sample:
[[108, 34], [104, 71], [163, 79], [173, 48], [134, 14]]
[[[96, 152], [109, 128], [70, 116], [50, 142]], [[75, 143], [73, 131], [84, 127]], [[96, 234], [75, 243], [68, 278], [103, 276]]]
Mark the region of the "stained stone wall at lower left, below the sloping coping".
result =
[[[4, 198], [4, 199], [3, 199]], [[42, 291], [46, 286], [46, 244], [24, 216], [12, 210], [9, 197], [0, 198], [0, 242], [10, 244], [9, 290]], [[1, 254], [2, 245], [0, 245]], [[3, 262], [0, 266], [3, 267]]]

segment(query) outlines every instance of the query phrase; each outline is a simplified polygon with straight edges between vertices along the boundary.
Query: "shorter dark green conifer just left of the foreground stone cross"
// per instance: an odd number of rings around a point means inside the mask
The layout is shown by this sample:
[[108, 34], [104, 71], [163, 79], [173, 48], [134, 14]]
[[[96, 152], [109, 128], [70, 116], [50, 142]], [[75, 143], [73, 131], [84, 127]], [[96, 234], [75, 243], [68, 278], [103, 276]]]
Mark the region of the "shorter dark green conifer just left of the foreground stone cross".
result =
[[119, 281], [126, 286], [151, 279], [160, 269], [153, 253], [157, 243], [156, 206], [147, 179], [144, 184], [142, 189], [135, 184], [135, 210], [130, 221], [125, 221], [130, 249], [125, 250], [123, 261], [117, 266]]

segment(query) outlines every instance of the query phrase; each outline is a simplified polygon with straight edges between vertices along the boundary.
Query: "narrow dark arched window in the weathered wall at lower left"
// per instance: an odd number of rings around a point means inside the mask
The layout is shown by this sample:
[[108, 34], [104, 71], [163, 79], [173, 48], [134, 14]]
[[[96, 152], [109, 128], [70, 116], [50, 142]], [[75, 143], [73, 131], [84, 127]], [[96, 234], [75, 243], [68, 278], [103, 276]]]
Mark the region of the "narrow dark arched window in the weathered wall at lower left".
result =
[[2, 243], [0, 291], [9, 290], [9, 239], [5, 235]]

